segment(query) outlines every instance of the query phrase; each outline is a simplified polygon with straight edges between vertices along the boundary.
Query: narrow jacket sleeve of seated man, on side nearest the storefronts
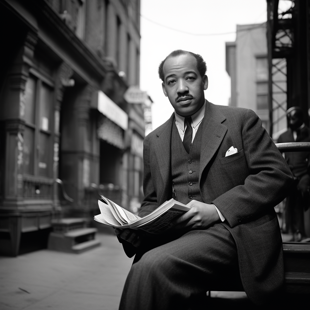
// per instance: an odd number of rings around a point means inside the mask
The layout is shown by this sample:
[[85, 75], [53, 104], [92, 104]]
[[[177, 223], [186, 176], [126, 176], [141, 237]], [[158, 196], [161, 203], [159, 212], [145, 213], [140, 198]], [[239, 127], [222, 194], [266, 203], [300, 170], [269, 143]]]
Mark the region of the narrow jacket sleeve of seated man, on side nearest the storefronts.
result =
[[143, 193], [144, 200], [141, 204], [139, 216], [144, 217], [153, 212], [157, 207], [157, 194], [155, 191], [151, 167], [150, 167], [150, 136], [147, 136], [143, 142]]

